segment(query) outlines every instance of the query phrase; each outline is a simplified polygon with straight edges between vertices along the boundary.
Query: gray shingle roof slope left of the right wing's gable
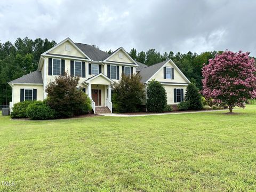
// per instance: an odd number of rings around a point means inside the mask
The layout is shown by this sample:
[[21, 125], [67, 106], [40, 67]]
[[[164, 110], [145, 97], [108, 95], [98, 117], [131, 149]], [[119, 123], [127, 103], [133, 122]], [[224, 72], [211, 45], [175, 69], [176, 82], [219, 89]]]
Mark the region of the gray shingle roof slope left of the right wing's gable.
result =
[[165, 60], [163, 62], [159, 62], [159, 63], [156, 63], [154, 65], [151, 65], [151, 66], [148, 66], [148, 67], [145, 67], [145, 68], [141, 68], [140, 69], [140, 75], [141, 75], [141, 82], [145, 83], [146, 81], [148, 81], [148, 79], [153, 76], [156, 71], [158, 69], [160, 69], [161, 67], [163, 67], [163, 65], [169, 60]]

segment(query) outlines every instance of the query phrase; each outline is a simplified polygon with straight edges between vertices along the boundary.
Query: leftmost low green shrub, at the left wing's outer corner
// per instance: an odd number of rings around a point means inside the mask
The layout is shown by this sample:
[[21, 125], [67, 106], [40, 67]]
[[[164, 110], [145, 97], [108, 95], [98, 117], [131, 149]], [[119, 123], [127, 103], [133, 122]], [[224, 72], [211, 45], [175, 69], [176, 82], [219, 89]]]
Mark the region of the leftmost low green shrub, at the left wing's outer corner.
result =
[[34, 101], [22, 101], [15, 103], [12, 108], [11, 118], [28, 118], [26, 109]]

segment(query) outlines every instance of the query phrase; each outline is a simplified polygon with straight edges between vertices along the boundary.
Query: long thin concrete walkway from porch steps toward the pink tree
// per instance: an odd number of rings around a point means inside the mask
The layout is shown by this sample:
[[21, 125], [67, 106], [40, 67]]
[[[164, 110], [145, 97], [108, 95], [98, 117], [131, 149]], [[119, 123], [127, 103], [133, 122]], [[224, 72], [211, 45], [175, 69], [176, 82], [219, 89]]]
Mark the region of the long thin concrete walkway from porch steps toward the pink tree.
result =
[[150, 115], [176, 115], [176, 114], [189, 114], [189, 113], [208, 113], [208, 112], [217, 112], [217, 111], [228, 111], [228, 109], [219, 109], [219, 110], [201, 110], [201, 111], [188, 111], [188, 112], [169, 112], [169, 113], [152, 113], [152, 114], [138, 114], [138, 115], [129, 115], [129, 114], [98, 114], [102, 116], [111, 116], [111, 117], [138, 117], [138, 116], [150, 116]]

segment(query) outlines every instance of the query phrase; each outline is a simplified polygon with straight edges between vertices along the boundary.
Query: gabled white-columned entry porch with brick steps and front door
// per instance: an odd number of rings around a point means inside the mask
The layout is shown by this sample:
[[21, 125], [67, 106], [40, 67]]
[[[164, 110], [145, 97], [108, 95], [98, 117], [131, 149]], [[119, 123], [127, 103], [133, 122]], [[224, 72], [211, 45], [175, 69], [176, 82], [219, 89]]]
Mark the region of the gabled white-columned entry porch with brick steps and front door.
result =
[[111, 83], [113, 81], [102, 73], [83, 82], [94, 113], [112, 113]]

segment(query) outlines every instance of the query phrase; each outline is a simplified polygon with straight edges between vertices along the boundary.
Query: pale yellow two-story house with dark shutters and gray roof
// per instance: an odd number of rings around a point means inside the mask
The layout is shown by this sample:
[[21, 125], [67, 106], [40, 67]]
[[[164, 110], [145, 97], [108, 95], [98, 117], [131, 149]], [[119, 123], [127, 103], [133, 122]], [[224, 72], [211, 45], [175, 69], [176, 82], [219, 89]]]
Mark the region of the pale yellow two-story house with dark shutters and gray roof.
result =
[[139, 73], [145, 88], [151, 79], [161, 82], [167, 93], [168, 105], [177, 105], [183, 100], [189, 83], [171, 59], [146, 66], [133, 60], [123, 47], [108, 54], [66, 38], [41, 54], [36, 71], [8, 83], [12, 87], [10, 107], [24, 100], [44, 100], [47, 84], [65, 72], [81, 77], [79, 85], [89, 95], [94, 113], [112, 111], [110, 85], [119, 81], [122, 74]]

